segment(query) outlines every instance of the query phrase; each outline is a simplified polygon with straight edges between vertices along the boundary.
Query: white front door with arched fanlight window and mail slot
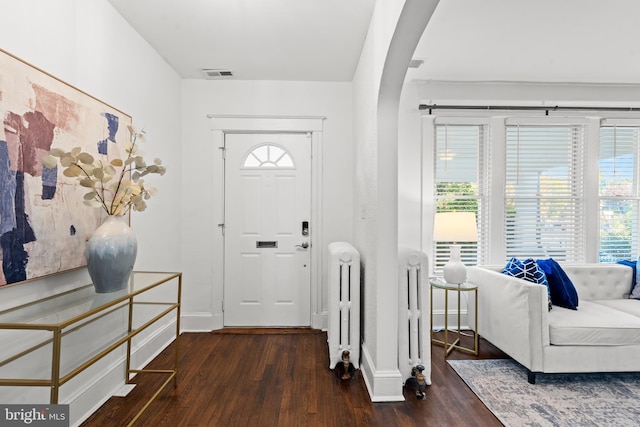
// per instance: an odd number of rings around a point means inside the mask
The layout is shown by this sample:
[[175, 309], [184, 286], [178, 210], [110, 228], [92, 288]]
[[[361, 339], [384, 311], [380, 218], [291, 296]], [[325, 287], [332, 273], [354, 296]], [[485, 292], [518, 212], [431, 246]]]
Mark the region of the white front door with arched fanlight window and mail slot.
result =
[[225, 135], [225, 326], [309, 326], [311, 138]]

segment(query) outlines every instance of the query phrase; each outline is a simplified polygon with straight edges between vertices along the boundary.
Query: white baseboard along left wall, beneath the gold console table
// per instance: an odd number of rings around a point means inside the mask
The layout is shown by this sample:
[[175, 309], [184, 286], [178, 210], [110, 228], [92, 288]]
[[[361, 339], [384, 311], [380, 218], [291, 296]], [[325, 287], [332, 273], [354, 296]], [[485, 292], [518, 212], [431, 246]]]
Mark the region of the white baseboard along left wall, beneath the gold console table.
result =
[[[176, 322], [163, 325], [145, 340], [134, 344], [131, 351], [131, 367], [141, 368], [153, 360], [175, 339]], [[143, 362], [138, 362], [138, 361]], [[91, 414], [97, 411], [111, 396], [125, 385], [126, 355], [122, 355], [115, 363], [103, 369], [102, 375], [91, 378], [91, 382], [75, 390], [67, 401], [70, 405], [70, 425], [79, 426]]]

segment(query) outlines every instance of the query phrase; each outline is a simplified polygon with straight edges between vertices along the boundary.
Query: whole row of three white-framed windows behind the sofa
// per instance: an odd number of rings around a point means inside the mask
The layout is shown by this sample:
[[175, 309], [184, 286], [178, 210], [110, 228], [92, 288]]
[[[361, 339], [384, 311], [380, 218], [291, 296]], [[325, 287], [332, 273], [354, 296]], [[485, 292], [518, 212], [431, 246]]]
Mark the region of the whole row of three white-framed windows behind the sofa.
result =
[[[433, 168], [427, 205], [477, 216], [477, 244], [462, 245], [466, 265], [640, 256], [640, 118], [485, 114], [424, 123], [433, 129], [424, 133]], [[433, 242], [435, 273], [449, 244]]]

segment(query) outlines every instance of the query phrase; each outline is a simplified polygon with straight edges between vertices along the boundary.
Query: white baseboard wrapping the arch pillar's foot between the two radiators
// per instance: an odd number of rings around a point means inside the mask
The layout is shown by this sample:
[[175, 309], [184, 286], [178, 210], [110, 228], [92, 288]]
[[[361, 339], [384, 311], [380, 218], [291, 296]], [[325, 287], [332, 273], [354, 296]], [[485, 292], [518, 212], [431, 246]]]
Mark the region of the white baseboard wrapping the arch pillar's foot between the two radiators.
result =
[[402, 374], [398, 369], [377, 370], [366, 344], [362, 344], [360, 370], [372, 402], [402, 402]]

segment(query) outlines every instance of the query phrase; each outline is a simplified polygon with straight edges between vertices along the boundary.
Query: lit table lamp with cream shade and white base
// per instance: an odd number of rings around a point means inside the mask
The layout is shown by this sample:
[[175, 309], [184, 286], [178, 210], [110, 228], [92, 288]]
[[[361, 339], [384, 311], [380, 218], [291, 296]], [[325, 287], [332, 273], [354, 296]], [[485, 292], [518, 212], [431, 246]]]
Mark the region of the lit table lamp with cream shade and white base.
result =
[[433, 240], [451, 242], [444, 280], [459, 285], [467, 280], [467, 269], [460, 260], [460, 242], [477, 242], [478, 226], [474, 212], [438, 212], [433, 221]]

